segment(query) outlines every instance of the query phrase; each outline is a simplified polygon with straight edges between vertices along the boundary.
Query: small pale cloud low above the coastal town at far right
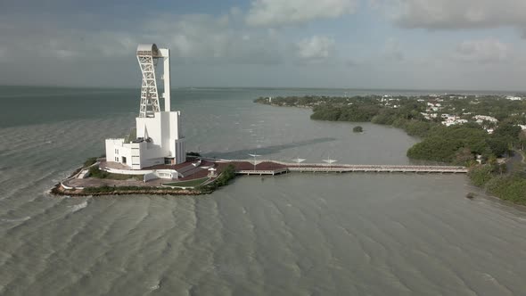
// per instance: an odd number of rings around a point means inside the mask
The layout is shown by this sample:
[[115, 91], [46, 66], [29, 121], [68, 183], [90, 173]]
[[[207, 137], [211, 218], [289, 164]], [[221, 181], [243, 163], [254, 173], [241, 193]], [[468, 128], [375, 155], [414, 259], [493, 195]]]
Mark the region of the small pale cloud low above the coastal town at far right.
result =
[[510, 52], [511, 45], [490, 38], [464, 41], [456, 46], [452, 57], [461, 62], [496, 63], [508, 59]]

